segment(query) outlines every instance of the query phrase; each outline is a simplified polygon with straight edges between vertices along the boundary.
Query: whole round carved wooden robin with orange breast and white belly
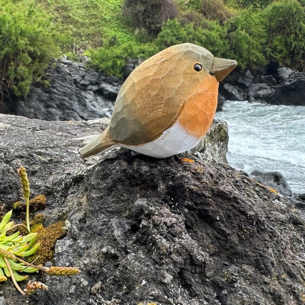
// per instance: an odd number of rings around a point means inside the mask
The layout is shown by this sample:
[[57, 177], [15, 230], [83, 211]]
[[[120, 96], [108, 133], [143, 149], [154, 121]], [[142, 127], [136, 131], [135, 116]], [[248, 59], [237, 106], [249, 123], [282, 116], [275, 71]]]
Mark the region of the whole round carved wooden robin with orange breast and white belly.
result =
[[195, 147], [212, 124], [219, 81], [235, 66], [191, 43], [148, 58], [120, 88], [109, 126], [80, 154], [124, 147], [166, 158]]

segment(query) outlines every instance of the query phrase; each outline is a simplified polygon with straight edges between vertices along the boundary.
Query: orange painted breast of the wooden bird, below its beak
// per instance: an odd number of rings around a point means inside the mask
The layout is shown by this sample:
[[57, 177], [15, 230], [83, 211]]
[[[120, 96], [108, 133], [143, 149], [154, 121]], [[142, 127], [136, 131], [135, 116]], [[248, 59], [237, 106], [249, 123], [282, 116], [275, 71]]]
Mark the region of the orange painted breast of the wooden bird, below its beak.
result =
[[202, 138], [212, 124], [217, 108], [218, 85], [215, 77], [206, 76], [180, 110], [177, 123], [196, 139]]

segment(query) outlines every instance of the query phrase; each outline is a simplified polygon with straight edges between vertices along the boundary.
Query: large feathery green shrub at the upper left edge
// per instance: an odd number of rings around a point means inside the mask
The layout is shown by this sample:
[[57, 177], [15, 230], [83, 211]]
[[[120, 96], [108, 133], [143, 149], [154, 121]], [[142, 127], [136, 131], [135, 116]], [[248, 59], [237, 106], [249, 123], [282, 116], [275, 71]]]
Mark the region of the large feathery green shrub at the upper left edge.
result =
[[3, 0], [0, 7], [0, 96], [26, 96], [43, 75], [51, 57], [59, 55], [52, 18], [34, 1]]

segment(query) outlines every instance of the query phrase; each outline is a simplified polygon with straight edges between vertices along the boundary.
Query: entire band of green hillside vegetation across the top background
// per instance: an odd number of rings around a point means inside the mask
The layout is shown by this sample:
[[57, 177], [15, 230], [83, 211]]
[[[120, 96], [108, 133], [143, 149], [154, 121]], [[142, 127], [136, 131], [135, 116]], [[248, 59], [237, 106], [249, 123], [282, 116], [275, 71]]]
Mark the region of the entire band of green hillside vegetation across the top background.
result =
[[0, 94], [24, 96], [59, 53], [121, 77], [130, 57], [192, 42], [238, 69], [305, 69], [305, 0], [2, 0]]

